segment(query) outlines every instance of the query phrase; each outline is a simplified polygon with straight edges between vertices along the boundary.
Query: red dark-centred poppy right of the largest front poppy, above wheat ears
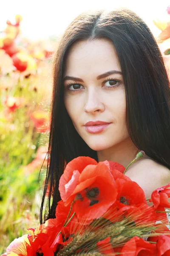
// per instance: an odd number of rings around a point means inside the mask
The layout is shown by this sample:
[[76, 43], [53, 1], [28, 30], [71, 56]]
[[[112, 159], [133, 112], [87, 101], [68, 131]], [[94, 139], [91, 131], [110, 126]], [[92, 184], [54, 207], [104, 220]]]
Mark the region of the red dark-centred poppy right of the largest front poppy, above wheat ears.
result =
[[118, 195], [115, 204], [104, 215], [105, 218], [115, 222], [126, 216], [136, 224], [141, 224], [143, 221], [154, 224], [156, 213], [153, 207], [147, 205], [143, 189], [136, 182], [128, 180], [129, 178], [122, 173], [114, 172]]

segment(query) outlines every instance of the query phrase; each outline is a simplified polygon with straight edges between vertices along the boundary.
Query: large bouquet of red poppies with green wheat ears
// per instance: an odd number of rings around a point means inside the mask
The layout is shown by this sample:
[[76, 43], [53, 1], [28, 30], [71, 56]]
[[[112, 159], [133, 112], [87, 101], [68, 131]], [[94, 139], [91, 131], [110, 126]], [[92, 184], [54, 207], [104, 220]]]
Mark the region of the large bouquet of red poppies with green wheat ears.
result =
[[59, 180], [56, 218], [28, 228], [30, 234], [2, 256], [170, 255], [164, 209], [170, 207], [170, 183], [153, 191], [149, 206], [142, 188], [123, 173], [115, 162], [72, 160]]

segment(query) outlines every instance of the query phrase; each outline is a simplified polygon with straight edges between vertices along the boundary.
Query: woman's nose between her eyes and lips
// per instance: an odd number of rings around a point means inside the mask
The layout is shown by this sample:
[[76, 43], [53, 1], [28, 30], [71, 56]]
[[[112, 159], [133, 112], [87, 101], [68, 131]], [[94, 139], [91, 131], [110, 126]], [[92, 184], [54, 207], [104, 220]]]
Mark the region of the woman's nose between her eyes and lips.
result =
[[87, 92], [84, 111], [86, 113], [103, 112], [105, 105], [100, 99], [99, 92], [91, 89]]

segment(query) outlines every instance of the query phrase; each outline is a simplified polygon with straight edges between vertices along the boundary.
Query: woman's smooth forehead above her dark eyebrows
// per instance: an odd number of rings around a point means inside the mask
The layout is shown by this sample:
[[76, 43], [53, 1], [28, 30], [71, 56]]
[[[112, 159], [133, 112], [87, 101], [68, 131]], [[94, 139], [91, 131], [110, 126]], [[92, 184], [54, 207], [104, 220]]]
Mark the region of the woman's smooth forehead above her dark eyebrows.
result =
[[113, 43], [109, 39], [99, 38], [91, 41], [77, 41], [69, 50], [65, 60], [65, 75], [85, 76], [121, 71]]

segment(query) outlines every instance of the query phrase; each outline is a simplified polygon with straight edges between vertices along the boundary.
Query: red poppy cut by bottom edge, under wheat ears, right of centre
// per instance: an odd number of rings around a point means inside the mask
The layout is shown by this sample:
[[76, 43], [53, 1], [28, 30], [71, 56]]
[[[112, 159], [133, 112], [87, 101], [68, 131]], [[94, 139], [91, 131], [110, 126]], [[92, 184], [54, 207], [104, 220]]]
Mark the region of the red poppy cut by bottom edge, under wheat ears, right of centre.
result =
[[134, 236], [123, 246], [123, 256], [158, 256], [156, 244], [150, 244], [138, 236]]

